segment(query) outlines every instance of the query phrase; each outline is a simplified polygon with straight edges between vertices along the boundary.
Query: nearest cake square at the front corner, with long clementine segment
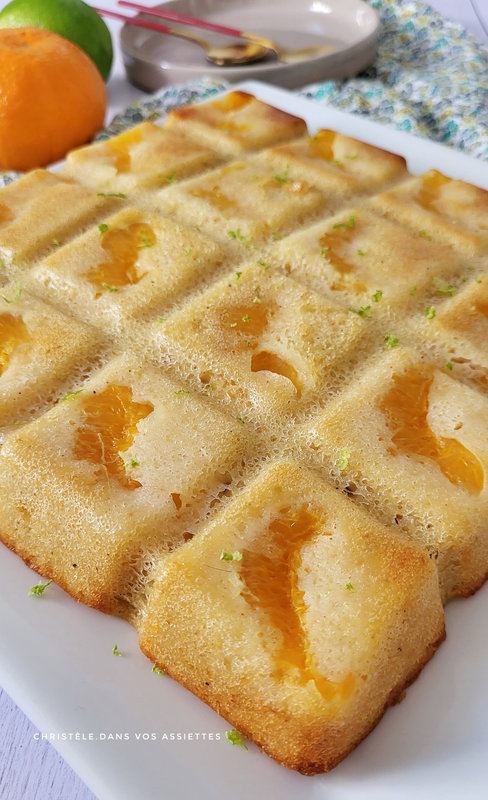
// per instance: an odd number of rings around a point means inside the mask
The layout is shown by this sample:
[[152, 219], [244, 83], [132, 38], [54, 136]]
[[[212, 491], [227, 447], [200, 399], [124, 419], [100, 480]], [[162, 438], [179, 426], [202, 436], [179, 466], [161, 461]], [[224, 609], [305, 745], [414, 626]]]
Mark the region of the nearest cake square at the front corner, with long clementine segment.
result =
[[433, 562], [282, 461], [157, 568], [140, 644], [268, 755], [332, 769], [444, 636]]

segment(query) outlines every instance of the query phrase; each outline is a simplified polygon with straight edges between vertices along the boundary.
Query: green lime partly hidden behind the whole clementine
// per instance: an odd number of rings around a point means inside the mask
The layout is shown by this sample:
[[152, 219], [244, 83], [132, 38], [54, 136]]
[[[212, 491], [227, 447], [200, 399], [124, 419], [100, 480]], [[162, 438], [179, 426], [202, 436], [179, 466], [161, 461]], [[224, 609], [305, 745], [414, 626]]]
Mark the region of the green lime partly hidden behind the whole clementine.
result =
[[12, 0], [0, 11], [0, 28], [46, 28], [87, 53], [107, 80], [113, 60], [112, 37], [105, 22], [82, 0]]

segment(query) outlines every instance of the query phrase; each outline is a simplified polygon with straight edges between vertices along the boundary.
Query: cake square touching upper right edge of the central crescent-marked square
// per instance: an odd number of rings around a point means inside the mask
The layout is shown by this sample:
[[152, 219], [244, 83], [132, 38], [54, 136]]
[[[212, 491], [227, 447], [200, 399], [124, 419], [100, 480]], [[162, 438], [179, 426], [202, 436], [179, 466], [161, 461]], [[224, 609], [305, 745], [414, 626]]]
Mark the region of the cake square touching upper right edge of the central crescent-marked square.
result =
[[380, 311], [387, 306], [397, 313], [417, 303], [435, 277], [465, 270], [446, 245], [361, 207], [286, 237], [270, 249], [269, 258], [346, 307], [369, 304]]

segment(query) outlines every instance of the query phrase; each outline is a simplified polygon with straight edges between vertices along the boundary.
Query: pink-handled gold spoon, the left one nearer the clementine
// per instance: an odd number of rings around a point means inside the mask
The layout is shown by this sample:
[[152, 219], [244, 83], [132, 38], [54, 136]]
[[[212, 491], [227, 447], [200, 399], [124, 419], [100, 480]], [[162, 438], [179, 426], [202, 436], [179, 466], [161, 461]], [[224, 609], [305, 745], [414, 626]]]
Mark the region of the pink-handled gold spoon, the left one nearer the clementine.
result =
[[156, 22], [149, 22], [139, 17], [126, 17], [123, 14], [117, 14], [115, 11], [108, 11], [103, 8], [95, 8], [94, 10], [104, 17], [114, 17], [120, 19], [129, 25], [135, 25], [137, 28], [148, 28], [157, 33], [167, 33], [170, 36], [179, 36], [180, 39], [187, 39], [189, 42], [198, 44], [205, 50], [205, 58], [212, 64], [217, 64], [218, 67], [230, 67], [237, 64], [251, 64], [253, 61], [261, 61], [269, 53], [268, 48], [261, 44], [253, 42], [236, 42], [235, 44], [226, 45], [225, 47], [217, 47], [209, 44], [205, 39], [200, 36], [194, 36], [192, 33], [185, 33], [177, 28], [169, 28], [167, 25], [159, 25]]

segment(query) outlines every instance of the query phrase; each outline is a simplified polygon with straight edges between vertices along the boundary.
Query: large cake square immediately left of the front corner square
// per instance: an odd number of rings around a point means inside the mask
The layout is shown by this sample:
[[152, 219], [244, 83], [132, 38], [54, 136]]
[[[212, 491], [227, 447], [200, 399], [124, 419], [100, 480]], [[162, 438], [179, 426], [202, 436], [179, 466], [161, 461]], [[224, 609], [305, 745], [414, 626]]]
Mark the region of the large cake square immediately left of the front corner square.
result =
[[228, 493], [250, 441], [237, 420], [119, 357], [6, 438], [0, 538], [73, 597], [133, 618], [154, 560]]

